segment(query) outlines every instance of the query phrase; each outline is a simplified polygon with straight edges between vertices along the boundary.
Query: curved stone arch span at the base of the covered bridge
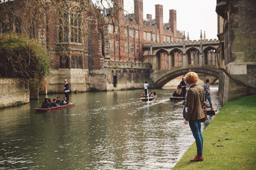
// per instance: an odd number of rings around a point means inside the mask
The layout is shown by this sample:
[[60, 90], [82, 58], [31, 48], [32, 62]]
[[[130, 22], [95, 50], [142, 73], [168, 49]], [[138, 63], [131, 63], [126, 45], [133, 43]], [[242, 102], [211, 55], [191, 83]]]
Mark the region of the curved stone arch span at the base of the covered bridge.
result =
[[[216, 71], [216, 69], [211, 68], [182, 68], [175, 69], [175, 70], [169, 70], [166, 73], [155, 73], [152, 75], [152, 80], [154, 81], [153, 86], [155, 88], [161, 88], [163, 87], [168, 81], [172, 80], [173, 78], [176, 78], [178, 76], [184, 75], [188, 73], [189, 71], [194, 71], [195, 73], [203, 73], [207, 75], [214, 76], [216, 78], [219, 78], [219, 71]], [[156, 80], [154, 80], [156, 78]]]

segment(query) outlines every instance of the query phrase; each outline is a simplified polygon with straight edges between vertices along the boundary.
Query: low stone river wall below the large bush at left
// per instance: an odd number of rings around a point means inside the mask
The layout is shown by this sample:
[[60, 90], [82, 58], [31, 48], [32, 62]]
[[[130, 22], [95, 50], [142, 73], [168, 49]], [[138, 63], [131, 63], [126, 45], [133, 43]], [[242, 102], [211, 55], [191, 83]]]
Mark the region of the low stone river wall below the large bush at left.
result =
[[29, 86], [15, 78], [0, 78], [0, 108], [29, 103]]

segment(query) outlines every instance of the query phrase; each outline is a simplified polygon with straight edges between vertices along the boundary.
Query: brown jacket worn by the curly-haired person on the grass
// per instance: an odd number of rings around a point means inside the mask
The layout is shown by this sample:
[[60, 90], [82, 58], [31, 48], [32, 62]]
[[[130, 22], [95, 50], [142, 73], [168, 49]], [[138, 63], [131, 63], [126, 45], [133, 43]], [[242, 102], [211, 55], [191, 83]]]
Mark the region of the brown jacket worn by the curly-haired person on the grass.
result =
[[188, 107], [188, 112], [186, 113], [185, 120], [200, 120], [205, 117], [204, 114], [204, 88], [198, 85], [192, 85], [188, 90], [186, 98], [186, 106]]

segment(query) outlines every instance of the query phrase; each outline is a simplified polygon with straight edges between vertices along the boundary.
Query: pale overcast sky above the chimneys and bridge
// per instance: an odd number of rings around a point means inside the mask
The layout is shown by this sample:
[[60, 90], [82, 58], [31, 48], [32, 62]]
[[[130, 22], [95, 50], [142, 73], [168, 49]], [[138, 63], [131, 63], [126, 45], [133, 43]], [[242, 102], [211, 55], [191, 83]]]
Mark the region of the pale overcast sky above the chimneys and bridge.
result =
[[[189, 32], [190, 39], [200, 39], [200, 30], [207, 39], [217, 39], [216, 0], [144, 0], [143, 15], [155, 18], [155, 4], [163, 5], [164, 23], [169, 22], [169, 10], [177, 11], [177, 29]], [[134, 1], [124, 0], [124, 8], [134, 12]]]

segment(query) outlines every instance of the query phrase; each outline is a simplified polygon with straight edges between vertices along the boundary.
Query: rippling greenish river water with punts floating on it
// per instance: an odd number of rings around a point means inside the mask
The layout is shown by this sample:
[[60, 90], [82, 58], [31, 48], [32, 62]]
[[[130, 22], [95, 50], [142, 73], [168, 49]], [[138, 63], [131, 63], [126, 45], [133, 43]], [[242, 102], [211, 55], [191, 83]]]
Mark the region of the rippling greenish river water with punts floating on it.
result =
[[[218, 88], [211, 90], [219, 110]], [[182, 118], [184, 102], [170, 101], [173, 90], [156, 89], [148, 104], [142, 92], [72, 94], [76, 106], [49, 113], [33, 110], [45, 96], [1, 109], [0, 169], [171, 169], [195, 141]], [[63, 94], [48, 95], [56, 96]]]

